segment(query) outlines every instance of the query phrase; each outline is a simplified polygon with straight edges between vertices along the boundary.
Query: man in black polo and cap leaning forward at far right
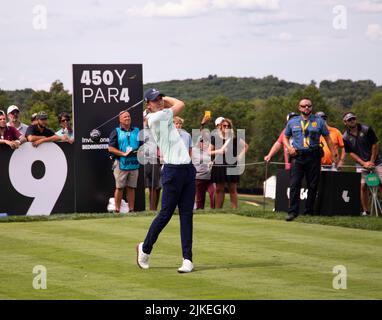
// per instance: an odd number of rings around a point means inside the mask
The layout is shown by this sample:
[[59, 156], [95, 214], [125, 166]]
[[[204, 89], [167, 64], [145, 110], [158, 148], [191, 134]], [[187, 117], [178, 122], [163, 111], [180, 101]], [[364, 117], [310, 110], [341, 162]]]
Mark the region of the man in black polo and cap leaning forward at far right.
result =
[[379, 153], [378, 138], [374, 130], [367, 125], [357, 123], [357, 117], [353, 112], [347, 112], [343, 116], [346, 131], [343, 133], [346, 153], [356, 162], [357, 172], [361, 173], [361, 204], [362, 216], [369, 212], [368, 189], [365, 177], [374, 170], [382, 181], [382, 157]]

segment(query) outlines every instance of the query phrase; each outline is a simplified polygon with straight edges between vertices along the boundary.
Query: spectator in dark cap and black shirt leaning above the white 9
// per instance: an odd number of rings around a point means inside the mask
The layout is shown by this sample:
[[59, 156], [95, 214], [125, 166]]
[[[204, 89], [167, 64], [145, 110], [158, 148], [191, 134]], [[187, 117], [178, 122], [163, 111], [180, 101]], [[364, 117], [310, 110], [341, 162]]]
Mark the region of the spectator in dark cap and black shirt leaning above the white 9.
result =
[[65, 141], [67, 137], [59, 137], [52, 131], [48, 129], [48, 115], [44, 111], [40, 111], [37, 114], [37, 124], [30, 125], [26, 131], [25, 137], [29, 142], [32, 142], [34, 147], [38, 147], [41, 143], [44, 142], [53, 142], [53, 141]]

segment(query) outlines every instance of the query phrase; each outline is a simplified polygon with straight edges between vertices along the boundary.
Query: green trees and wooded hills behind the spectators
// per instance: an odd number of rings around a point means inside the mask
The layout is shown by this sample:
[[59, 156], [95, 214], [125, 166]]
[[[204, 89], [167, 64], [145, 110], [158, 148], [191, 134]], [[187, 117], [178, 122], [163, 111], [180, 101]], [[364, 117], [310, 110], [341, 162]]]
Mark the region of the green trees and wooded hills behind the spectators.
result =
[[[144, 89], [156, 87], [161, 92], [182, 99], [187, 107], [182, 113], [184, 129], [191, 133], [200, 126], [204, 111], [212, 113], [212, 120], [219, 116], [230, 118], [236, 129], [245, 129], [249, 151], [247, 163], [261, 162], [286, 124], [286, 115], [297, 111], [302, 97], [310, 98], [314, 112], [324, 111], [328, 123], [344, 131], [342, 115], [354, 111], [359, 122], [371, 125], [382, 138], [382, 88], [370, 80], [322, 81], [319, 85], [286, 82], [269, 76], [256, 78], [219, 78], [210, 75], [204, 79], [148, 83]], [[29, 123], [34, 112], [44, 110], [49, 115], [48, 125], [57, 130], [57, 115], [71, 113], [72, 97], [60, 81], [52, 83], [49, 91], [32, 89], [0, 90], [0, 108], [16, 104], [22, 110], [22, 120]], [[213, 121], [207, 125], [214, 129]], [[283, 161], [280, 152], [272, 161]], [[348, 160], [348, 163], [351, 163]], [[265, 178], [280, 166], [249, 165], [241, 177], [240, 187], [261, 188]], [[281, 166], [282, 168], [282, 166]]]

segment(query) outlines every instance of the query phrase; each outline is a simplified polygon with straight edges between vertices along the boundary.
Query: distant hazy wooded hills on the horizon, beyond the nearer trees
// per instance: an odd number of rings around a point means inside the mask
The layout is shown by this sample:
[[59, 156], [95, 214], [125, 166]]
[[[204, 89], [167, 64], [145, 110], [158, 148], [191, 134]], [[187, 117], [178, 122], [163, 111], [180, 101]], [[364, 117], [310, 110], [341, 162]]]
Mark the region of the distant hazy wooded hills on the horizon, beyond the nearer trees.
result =
[[[311, 84], [316, 85], [314, 82]], [[280, 80], [274, 76], [237, 78], [209, 75], [201, 79], [146, 83], [143, 87], [144, 89], [149, 87], [158, 88], [163, 93], [184, 101], [195, 99], [212, 101], [218, 96], [227, 97], [231, 101], [249, 101], [252, 99], [289, 96], [307, 86], [307, 84]], [[318, 87], [320, 94], [330, 105], [343, 109], [351, 109], [354, 103], [370, 98], [377, 91], [382, 92], [382, 86], [378, 87], [371, 80], [324, 80], [321, 81]], [[35, 92], [32, 89], [2, 91], [3, 96], [1, 96], [0, 92], [0, 102], [4, 105], [16, 104], [23, 107], [24, 110], [29, 110], [31, 106], [28, 105], [28, 100]]]

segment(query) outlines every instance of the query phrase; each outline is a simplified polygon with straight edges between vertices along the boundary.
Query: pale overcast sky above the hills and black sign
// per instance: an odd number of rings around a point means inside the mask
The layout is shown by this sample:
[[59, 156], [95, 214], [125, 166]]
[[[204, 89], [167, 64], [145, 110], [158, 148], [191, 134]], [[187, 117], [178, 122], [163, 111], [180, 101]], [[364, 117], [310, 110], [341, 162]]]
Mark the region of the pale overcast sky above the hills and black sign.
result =
[[1, 0], [0, 88], [72, 91], [73, 63], [143, 81], [218, 76], [382, 85], [382, 0]]

